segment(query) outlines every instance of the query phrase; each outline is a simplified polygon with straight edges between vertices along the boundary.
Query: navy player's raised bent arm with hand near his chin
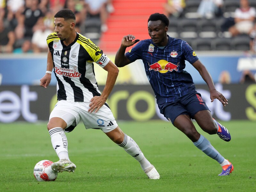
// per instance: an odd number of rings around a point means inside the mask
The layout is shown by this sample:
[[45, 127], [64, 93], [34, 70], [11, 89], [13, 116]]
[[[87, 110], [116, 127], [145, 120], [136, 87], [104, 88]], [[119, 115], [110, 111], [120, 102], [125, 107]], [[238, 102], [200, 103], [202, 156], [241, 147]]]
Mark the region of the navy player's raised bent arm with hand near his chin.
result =
[[[125, 56], [125, 49], [126, 47], [130, 47], [140, 41], [139, 39], [135, 39], [135, 36], [133, 35], [127, 35], [124, 36], [121, 42], [121, 46], [116, 52], [116, 57], [115, 57], [115, 64], [117, 67], [124, 67], [125, 65], [128, 65], [131, 63], [131, 61]], [[134, 40], [134, 41], [133, 41]]]

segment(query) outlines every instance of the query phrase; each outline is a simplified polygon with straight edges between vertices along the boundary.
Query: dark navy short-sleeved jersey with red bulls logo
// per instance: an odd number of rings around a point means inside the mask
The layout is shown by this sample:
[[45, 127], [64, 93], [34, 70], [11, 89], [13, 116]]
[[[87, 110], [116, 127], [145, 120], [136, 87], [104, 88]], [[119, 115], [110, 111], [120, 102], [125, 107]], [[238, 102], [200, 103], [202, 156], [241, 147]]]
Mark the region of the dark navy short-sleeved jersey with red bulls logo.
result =
[[159, 48], [151, 39], [146, 39], [125, 55], [132, 62], [143, 61], [160, 111], [181, 96], [196, 92], [193, 79], [184, 68], [185, 60], [193, 64], [198, 58], [187, 42], [168, 36], [167, 45]]

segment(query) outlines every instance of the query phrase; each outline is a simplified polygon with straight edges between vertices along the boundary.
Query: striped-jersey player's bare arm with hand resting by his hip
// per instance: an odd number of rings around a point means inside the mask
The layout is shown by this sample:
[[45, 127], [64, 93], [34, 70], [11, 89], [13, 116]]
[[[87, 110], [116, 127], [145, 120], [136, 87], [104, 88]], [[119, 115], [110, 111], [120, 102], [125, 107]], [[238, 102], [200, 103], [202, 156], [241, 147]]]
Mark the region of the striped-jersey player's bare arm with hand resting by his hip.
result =
[[100, 96], [94, 96], [90, 100], [91, 103], [89, 104], [90, 108], [88, 110], [90, 113], [92, 113], [94, 110], [94, 113], [96, 113], [102, 107], [102, 105], [105, 104], [110, 92], [116, 83], [116, 78], [119, 72], [119, 69], [116, 67], [116, 65], [111, 60], [109, 60], [108, 64], [103, 69], [108, 71], [106, 85]]

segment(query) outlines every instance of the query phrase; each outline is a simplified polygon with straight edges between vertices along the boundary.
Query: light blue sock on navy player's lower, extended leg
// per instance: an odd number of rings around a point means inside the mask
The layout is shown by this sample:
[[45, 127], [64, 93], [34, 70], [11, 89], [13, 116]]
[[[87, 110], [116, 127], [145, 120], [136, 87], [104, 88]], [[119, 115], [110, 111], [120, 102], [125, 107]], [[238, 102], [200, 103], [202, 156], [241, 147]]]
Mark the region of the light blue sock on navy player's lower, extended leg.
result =
[[225, 160], [203, 135], [200, 136], [198, 141], [194, 142], [194, 145], [220, 164]]

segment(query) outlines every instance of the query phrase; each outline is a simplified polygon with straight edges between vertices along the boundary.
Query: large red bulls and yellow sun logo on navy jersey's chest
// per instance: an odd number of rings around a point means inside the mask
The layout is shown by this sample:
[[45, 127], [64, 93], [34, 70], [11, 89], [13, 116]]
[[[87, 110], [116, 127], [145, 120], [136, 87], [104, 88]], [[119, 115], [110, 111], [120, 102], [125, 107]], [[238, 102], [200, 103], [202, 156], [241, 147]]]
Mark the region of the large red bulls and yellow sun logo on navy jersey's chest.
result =
[[159, 60], [156, 63], [153, 64], [148, 64], [149, 65], [149, 69], [148, 70], [154, 70], [154, 71], [158, 71], [160, 73], [166, 73], [168, 71], [178, 71], [178, 67], [179, 67], [179, 63], [177, 63], [177, 65], [168, 62], [166, 60]]

